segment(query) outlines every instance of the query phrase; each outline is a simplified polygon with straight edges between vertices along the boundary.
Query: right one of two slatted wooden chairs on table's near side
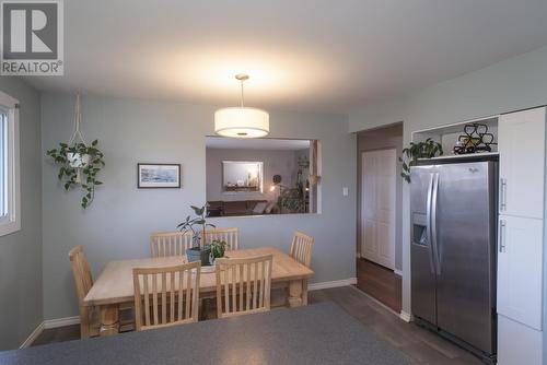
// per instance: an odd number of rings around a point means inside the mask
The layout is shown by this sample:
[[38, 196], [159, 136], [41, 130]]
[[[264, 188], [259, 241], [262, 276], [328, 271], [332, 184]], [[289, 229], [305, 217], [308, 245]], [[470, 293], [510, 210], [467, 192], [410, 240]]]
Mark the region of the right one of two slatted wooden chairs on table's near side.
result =
[[218, 318], [270, 310], [272, 260], [272, 255], [217, 259]]

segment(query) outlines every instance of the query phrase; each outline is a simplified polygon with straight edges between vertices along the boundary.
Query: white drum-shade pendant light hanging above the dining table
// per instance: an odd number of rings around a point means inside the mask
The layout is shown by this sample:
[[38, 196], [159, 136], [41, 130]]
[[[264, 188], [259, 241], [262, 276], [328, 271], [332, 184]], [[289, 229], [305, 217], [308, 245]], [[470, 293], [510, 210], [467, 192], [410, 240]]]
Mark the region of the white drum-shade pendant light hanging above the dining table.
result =
[[235, 79], [241, 82], [240, 107], [217, 110], [214, 113], [214, 132], [219, 136], [232, 138], [259, 138], [268, 136], [270, 131], [268, 113], [243, 105], [243, 83], [248, 80], [248, 75], [238, 73], [235, 75]]

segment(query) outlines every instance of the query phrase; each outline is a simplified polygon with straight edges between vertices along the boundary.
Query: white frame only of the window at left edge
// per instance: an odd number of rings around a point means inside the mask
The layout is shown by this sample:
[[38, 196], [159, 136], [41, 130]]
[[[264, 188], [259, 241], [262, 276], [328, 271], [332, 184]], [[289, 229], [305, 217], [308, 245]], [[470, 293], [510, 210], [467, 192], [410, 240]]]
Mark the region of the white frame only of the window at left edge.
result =
[[8, 215], [0, 220], [0, 236], [5, 236], [21, 231], [19, 101], [0, 92], [0, 107], [8, 110]]

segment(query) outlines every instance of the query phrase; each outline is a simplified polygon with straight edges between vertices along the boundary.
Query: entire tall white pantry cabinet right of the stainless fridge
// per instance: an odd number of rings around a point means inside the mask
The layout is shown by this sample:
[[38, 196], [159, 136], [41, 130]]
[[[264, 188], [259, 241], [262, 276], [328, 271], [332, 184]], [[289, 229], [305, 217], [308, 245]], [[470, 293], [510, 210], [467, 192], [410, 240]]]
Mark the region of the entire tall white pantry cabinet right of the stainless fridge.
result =
[[498, 125], [498, 364], [542, 364], [545, 107]]

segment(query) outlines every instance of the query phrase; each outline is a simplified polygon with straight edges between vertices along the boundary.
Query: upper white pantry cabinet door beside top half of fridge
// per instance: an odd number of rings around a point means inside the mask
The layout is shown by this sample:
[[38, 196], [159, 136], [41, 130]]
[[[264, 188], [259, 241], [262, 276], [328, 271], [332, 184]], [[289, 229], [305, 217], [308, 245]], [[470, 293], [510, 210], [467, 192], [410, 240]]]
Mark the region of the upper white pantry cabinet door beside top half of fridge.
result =
[[545, 108], [502, 115], [498, 151], [500, 214], [543, 219]]

